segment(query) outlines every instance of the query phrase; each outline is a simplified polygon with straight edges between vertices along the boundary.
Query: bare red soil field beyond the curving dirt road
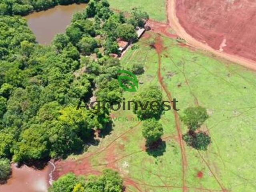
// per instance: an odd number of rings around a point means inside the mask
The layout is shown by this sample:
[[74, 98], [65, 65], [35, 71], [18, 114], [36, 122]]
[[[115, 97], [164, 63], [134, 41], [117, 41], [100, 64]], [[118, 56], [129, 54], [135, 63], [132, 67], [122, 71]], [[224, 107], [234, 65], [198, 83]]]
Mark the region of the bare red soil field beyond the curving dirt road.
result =
[[256, 1], [176, 0], [176, 15], [196, 40], [256, 61]]

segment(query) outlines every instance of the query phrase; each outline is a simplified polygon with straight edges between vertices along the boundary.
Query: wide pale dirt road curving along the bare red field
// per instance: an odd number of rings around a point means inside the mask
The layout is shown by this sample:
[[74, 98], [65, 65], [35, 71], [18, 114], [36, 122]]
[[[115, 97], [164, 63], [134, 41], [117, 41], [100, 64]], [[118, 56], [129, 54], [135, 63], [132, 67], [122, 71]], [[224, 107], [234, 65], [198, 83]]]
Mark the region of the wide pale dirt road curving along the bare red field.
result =
[[196, 39], [194, 39], [192, 36], [190, 36], [186, 30], [180, 25], [179, 19], [176, 15], [176, 0], [167, 0], [167, 21], [169, 26], [176, 32], [178, 36], [186, 40], [187, 44], [194, 48], [199, 48], [202, 50], [207, 50], [215, 54], [216, 56], [225, 58], [229, 61], [235, 62], [237, 64], [240, 64], [246, 68], [249, 68], [251, 70], [256, 71], [256, 62], [253, 60], [249, 60], [240, 56], [236, 56], [233, 54], [228, 54], [225, 52], [220, 52], [219, 50], [214, 50], [207, 44], [204, 44]]

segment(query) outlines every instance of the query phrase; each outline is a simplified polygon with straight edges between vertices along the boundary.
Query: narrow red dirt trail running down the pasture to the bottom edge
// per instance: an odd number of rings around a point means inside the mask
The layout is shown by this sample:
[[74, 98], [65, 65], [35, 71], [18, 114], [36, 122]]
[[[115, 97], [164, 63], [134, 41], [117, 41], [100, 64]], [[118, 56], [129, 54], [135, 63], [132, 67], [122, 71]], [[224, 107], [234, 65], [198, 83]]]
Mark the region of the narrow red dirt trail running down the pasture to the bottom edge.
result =
[[[162, 46], [162, 40], [161, 40], [160, 36], [158, 36], [156, 38], [155, 48], [156, 48], [156, 52], [157, 52], [157, 55], [158, 55], [158, 81], [161, 84], [162, 89], [166, 93], [166, 95], [168, 97], [168, 100], [172, 104], [172, 108], [173, 108], [172, 95], [168, 91], [166, 85], [164, 84], [163, 77], [162, 77], [162, 74], [161, 74], [161, 52], [162, 52], [163, 46]], [[184, 143], [182, 141], [182, 132], [181, 132], [181, 128], [180, 128], [179, 116], [178, 116], [178, 113], [177, 113], [176, 110], [173, 110], [173, 112], [174, 112], [175, 127], [176, 127], [176, 130], [177, 130], [177, 133], [178, 133], [178, 142], [180, 144], [180, 151], [181, 151], [181, 157], [182, 157], [182, 191], [186, 192], [187, 191], [186, 181], [185, 181], [186, 166], [187, 166], [186, 152], [185, 152]]]

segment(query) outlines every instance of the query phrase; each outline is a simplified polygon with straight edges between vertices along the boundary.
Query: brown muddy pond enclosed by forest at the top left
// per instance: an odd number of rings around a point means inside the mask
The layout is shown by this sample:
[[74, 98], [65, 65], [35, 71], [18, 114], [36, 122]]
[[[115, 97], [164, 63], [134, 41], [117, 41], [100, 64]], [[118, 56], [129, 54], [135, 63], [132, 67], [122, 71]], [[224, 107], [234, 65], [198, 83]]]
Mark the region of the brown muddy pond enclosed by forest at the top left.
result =
[[72, 14], [84, 10], [86, 4], [58, 5], [46, 11], [34, 12], [25, 18], [41, 44], [50, 44], [54, 36], [65, 32], [70, 24]]

